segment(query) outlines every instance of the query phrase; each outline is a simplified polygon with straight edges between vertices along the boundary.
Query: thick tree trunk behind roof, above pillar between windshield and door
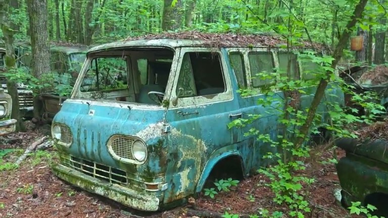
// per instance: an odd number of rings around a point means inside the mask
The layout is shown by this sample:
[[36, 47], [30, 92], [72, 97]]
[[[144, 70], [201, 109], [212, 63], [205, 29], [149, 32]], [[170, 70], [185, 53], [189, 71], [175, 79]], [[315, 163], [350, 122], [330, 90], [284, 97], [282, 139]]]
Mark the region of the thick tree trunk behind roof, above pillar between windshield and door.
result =
[[162, 30], [176, 30], [182, 25], [182, 1], [177, 0], [176, 4], [172, 6], [173, 0], [164, 0]]

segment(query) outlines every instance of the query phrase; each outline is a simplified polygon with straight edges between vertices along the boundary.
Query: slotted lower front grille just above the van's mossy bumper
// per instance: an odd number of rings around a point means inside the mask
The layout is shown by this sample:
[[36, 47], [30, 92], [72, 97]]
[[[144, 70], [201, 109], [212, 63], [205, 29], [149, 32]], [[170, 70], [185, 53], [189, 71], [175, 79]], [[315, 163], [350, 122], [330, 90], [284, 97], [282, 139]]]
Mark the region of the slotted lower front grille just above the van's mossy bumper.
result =
[[84, 173], [88, 176], [94, 177], [96, 179], [101, 179], [109, 183], [119, 185], [128, 184], [127, 174], [125, 171], [101, 165], [99, 163], [95, 163], [85, 159], [77, 158], [74, 156], [70, 156], [70, 159], [65, 159], [65, 157], [61, 156], [61, 160], [62, 163], [64, 163], [68, 167], [81, 173]]

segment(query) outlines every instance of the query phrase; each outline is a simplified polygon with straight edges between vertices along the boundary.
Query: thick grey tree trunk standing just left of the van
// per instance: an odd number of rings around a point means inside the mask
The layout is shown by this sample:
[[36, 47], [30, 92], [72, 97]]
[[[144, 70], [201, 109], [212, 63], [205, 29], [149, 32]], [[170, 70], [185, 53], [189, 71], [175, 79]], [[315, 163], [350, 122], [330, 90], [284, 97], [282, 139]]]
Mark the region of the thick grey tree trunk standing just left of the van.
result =
[[[31, 29], [32, 75], [41, 84], [46, 84], [45, 75], [50, 73], [50, 44], [47, 35], [47, 0], [28, 0], [28, 13]], [[40, 94], [44, 90], [34, 90]], [[34, 118], [40, 123], [42, 104], [38, 96], [34, 97]]]

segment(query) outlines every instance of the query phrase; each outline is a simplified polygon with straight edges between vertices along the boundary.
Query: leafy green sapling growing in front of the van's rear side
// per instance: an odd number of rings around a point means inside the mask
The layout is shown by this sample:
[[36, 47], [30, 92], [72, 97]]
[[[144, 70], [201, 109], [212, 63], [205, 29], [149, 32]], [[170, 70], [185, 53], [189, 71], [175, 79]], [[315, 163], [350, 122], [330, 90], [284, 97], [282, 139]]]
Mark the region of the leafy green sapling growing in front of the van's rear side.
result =
[[[305, 217], [304, 214], [311, 211], [306, 197], [308, 194], [304, 191], [306, 187], [314, 183], [313, 178], [303, 175], [305, 165], [303, 159], [309, 157], [310, 147], [307, 146], [309, 136], [301, 135], [299, 128], [306, 122], [306, 114], [308, 112], [309, 103], [300, 102], [297, 105], [292, 105], [295, 95], [306, 95], [309, 87], [316, 86], [321, 79], [326, 79], [326, 72], [331, 72], [329, 78], [330, 86], [326, 89], [324, 98], [322, 99], [320, 110], [315, 114], [310, 133], [318, 133], [318, 127], [323, 127], [331, 132], [333, 138], [336, 137], [357, 137], [352, 133], [352, 127], [356, 124], [371, 123], [378, 115], [383, 113], [383, 107], [378, 103], [370, 100], [373, 98], [371, 93], [364, 93], [362, 95], [351, 92], [347, 87], [342, 87], [342, 90], [354, 94], [355, 101], [363, 105], [369, 114], [361, 118], [346, 113], [346, 107], [338, 104], [338, 95], [330, 93], [333, 88], [341, 87], [344, 84], [341, 78], [335, 76], [334, 69], [331, 68], [332, 58], [328, 56], [316, 56], [314, 53], [300, 53], [299, 60], [303, 62], [312, 62], [317, 64], [317, 69], [310, 72], [312, 79], [290, 79], [287, 72], [277, 71], [278, 74], [268, 74], [265, 72], [258, 72], [257, 78], [273, 79], [276, 82], [259, 90], [240, 90], [242, 96], [249, 96], [250, 94], [263, 93], [265, 97], [259, 98], [257, 104], [262, 105], [266, 113], [279, 116], [279, 135], [273, 138], [268, 133], [261, 133], [255, 128], [251, 128], [245, 133], [246, 136], [256, 136], [262, 145], [271, 146], [277, 152], [268, 152], [263, 158], [275, 162], [276, 165], [270, 168], [262, 168], [258, 172], [269, 178], [270, 182], [265, 185], [270, 187], [274, 193], [273, 201], [280, 205], [286, 205], [288, 208], [288, 215], [290, 217]], [[279, 76], [280, 75], [280, 76]], [[271, 78], [272, 77], [272, 78]], [[310, 78], [310, 77], [309, 77]], [[274, 91], [277, 90], [277, 91]], [[311, 90], [311, 89], [310, 89]], [[369, 101], [368, 101], [369, 99]], [[373, 98], [376, 99], [376, 98]], [[246, 127], [261, 119], [259, 115], [249, 115], [248, 119], [238, 119], [229, 124], [229, 128]], [[347, 128], [344, 128], [344, 127]], [[305, 145], [297, 147], [293, 139], [302, 136], [305, 138]], [[330, 160], [335, 162], [335, 160]], [[263, 217], [282, 217], [281, 211], [274, 211], [272, 214], [268, 210], [261, 211]]]

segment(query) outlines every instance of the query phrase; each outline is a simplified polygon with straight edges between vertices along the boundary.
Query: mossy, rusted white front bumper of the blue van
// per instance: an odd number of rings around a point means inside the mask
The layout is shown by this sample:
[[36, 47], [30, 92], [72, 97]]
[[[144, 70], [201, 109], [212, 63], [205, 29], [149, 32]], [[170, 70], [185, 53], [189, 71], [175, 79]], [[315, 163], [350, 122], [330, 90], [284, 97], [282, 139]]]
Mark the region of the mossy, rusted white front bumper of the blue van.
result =
[[138, 210], [157, 211], [159, 209], [159, 198], [156, 196], [147, 196], [117, 184], [95, 179], [60, 164], [54, 165], [52, 169], [55, 176], [88, 192], [107, 197]]

